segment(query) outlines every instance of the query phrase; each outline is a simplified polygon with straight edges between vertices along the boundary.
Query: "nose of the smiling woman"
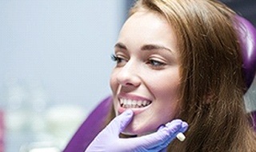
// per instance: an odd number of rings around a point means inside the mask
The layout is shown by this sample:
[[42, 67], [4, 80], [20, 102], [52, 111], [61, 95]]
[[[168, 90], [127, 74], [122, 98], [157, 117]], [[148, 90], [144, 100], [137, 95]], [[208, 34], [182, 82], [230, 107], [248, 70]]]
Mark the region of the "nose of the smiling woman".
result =
[[118, 83], [121, 86], [134, 86], [138, 87], [141, 84], [139, 77], [139, 68], [138, 64], [134, 61], [126, 62], [125, 66], [121, 67], [117, 75]]

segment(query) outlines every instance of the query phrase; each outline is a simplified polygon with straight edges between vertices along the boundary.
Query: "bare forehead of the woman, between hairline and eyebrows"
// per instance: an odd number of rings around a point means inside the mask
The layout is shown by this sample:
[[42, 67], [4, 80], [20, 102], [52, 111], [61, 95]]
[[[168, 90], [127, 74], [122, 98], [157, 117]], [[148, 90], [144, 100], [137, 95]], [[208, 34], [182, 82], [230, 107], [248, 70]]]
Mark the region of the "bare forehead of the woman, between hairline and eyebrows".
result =
[[138, 11], [126, 20], [118, 41], [126, 45], [157, 43], [176, 50], [176, 36], [171, 24], [159, 14], [146, 10]]

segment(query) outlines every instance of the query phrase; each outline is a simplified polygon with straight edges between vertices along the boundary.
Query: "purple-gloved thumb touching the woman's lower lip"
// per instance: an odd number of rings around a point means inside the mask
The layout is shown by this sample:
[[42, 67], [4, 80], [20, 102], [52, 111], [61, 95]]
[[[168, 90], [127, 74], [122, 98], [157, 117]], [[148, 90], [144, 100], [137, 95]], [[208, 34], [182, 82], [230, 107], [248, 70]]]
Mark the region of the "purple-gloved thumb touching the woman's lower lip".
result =
[[119, 135], [126, 126], [129, 124], [133, 118], [134, 112], [132, 110], [126, 110], [122, 114], [114, 118], [109, 125], [106, 126], [106, 129], [109, 130], [114, 135]]

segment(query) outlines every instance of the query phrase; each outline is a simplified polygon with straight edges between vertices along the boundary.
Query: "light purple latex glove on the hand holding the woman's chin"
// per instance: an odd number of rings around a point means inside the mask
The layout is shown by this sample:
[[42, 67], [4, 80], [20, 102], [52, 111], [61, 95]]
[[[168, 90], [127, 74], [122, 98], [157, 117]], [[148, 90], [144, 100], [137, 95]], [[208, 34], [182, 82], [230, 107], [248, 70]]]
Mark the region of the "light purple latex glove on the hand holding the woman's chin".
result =
[[176, 138], [180, 132], [185, 132], [187, 123], [176, 119], [162, 126], [157, 132], [138, 138], [119, 138], [133, 117], [132, 110], [126, 110], [114, 118], [102, 132], [98, 134], [86, 152], [113, 151], [113, 152], [150, 152], [165, 150], [166, 146]]

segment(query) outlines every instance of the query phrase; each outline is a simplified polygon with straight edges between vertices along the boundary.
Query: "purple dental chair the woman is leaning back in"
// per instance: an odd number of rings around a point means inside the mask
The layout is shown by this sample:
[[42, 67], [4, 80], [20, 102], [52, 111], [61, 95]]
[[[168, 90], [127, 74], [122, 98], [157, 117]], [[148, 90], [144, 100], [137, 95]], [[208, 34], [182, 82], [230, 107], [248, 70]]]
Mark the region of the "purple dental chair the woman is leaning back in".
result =
[[[238, 17], [241, 26], [238, 26], [238, 34], [242, 42], [243, 72], [247, 89], [250, 88], [256, 72], [256, 29], [245, 18]], [[103, 129], [104, 121], [112, 106], [112, 98], [104, 98], [102, 102], [90, 113], [82, 125], [78, 128], [73, 138], [67, 144], [63, 152], [83, 152], [94, 137]], [[252, 112], [256, 123], [256, 111]], [[256, 126], [254, 126], [256, 130]]]

